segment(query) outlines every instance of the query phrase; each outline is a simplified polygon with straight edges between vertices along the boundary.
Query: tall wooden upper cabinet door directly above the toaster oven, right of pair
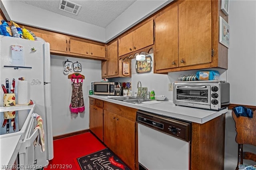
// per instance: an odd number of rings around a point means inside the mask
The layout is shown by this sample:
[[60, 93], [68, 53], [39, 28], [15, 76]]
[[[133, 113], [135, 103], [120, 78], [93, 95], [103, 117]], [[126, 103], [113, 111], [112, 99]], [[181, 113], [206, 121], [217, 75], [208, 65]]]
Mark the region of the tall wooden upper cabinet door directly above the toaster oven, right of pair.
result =
[[179, 66], [212, 61], [211, 1], [185, 1], [178, 5]]

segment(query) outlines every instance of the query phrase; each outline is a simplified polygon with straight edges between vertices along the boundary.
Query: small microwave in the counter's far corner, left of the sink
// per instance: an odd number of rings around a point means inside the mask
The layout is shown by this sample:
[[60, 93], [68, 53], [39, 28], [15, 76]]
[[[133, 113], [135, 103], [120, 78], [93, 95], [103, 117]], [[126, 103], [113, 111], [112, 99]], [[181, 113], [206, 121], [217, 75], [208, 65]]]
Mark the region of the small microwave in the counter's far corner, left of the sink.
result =
[[115, 95], [115, 82], [94, 82], [95, 95]]

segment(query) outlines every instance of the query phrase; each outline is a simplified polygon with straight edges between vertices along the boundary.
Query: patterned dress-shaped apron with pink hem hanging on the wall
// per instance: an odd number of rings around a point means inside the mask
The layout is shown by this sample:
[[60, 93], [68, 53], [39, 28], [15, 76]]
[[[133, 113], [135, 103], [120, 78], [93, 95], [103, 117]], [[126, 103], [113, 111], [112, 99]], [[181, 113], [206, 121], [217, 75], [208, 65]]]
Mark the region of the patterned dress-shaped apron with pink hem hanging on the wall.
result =
[[83, 79], [81, 81], [78, 81], [79, 79], [73, 80], [71, 78], [72, 82], [72, 96], [71, 96], [71, 103], [70, 103], [70, 111], [72, 113], [78, 114], [78, 112], [84, 111], [84, 98], [83, 98], [83, 91], [82, 91], [82, 83]]

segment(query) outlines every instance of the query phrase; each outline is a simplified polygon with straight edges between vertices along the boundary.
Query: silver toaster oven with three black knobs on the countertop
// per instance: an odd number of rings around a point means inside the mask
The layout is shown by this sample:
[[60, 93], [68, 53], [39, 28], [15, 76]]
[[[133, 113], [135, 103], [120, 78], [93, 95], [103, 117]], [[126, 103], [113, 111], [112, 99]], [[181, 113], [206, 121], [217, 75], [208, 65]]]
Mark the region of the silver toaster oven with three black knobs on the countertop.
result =
[[230, 104], [230, 84], [226, 81], [179, 81], [173, 89], [175, 105], [220, 110]]

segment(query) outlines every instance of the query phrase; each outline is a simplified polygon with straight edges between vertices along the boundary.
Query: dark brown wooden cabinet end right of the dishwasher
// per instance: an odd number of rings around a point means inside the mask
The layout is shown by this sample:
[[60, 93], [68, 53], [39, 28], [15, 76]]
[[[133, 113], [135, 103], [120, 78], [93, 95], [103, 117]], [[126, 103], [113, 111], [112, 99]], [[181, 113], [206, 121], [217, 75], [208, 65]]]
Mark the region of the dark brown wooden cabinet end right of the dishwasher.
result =
[[191, 170], [224, 170], [225, 114], [192, 123]]

